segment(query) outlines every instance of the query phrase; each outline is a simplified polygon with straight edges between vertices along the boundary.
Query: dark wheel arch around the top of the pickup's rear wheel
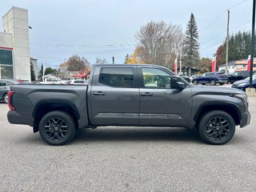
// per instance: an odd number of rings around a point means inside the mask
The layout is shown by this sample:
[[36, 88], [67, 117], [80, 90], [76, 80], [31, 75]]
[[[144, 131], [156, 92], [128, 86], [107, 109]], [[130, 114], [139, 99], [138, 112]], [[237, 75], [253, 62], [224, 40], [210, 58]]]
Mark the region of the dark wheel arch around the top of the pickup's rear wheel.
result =
[[76, 123], [76, 126], [78, 126], [78, 119], [80, 119], [81, 117], [74, 103], [68, 102], [65, 100], [60, 100], [60, 99], [58, 100], [51, 99], [51, 100], [38, 102], [38, 104], [34, 107], [34, 111], [32, 114], [32, 117], [34, 119], [34, 126], [33, 126], [34, 133], [38, 132], [38, 125], [42, 117], [45, 114], [48, 114], [50, 111], [54, 111], [54, 110], [61, 110], [70, 114], [70, 116], [74, 118], [74, 122]]

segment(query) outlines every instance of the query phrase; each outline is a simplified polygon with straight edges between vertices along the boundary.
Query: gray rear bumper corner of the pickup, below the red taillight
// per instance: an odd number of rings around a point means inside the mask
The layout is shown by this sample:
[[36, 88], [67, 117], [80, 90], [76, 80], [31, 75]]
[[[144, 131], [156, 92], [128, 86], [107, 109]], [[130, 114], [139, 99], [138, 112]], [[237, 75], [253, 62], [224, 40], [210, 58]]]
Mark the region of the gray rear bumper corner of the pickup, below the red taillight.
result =
[[31, 121], [28, 118], [24, 118], [23, 115], [18, 114], [16, 110], [9, 110], [7, 114], [8, 122], [11, 124], [22, 124], [22, 125], [28, 125], [33, 126], [33, 120]]

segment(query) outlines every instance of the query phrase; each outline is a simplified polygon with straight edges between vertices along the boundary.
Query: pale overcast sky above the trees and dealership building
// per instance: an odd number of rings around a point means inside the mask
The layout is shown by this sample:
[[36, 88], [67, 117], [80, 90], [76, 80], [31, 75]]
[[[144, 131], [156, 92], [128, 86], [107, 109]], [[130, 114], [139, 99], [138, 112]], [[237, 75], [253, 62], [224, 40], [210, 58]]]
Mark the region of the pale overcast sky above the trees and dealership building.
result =
[[[74, 54], [124, 63], [141, 26], [151, 20], [182, 26], [193, 13], [198, 25], [200, 57], [212, 58], [230, 34], [251, 30], [253, 0], [0, 0], [0, 16], [12, 6], [28, 10], [30, 57], [52, 68]], [[0, 19], [2, 32], [2, 19]]]

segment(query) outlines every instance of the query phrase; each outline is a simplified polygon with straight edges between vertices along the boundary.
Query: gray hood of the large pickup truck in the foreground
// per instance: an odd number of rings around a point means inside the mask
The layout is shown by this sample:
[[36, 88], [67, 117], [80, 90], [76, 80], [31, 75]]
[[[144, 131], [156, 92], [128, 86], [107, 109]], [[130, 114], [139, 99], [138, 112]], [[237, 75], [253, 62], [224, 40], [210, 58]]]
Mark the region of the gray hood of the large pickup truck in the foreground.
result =
[[229, 95], [229, 94], [245, 94], [242, 90], [219, 87], [219, 86], [192, 86], [191, 90], [194, 94], [215, 94], [215, 95]]

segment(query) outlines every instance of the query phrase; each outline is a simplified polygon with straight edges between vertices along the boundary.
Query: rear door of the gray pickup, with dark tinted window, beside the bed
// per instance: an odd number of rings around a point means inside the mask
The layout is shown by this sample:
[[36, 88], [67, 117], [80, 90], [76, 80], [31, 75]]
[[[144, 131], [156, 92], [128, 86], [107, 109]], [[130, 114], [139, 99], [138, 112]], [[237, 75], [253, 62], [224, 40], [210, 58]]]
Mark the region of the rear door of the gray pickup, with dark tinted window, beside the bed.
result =
[[134, 74], [136, 67], [95, 67], [89, 90], [94, 125], [138, 125], [139, 93]]

